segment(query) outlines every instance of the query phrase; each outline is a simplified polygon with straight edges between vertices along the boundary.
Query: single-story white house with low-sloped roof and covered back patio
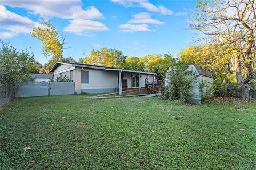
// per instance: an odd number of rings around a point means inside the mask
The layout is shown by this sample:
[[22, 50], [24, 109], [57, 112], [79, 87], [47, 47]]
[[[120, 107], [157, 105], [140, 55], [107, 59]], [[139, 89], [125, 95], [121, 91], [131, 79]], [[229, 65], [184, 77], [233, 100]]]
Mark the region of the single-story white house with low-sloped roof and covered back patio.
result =
[[56, 62], [51, 72], [54, 73], [54, 78], [62, 74], [73, 80], [77, 94], [107, 93], [117, 90], [122, 94], [123, 90], [136, 88], [140, 91], [145, 84], [154, 85], [156, 75], [149, 72], [71, 62]]

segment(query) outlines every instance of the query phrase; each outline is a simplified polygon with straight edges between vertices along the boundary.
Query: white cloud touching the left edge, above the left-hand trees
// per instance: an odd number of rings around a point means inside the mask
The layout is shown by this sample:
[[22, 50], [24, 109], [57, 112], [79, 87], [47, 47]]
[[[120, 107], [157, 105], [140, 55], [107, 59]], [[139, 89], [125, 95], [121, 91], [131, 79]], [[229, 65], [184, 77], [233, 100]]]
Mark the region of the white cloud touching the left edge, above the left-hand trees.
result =
[[32, 28], [40, 24], [31, 19], [8, 11], [0, 5], [0, 28], [6, 31], [0, 32], [0, 38], [11, 38], [20, 33], [29, 33]]

